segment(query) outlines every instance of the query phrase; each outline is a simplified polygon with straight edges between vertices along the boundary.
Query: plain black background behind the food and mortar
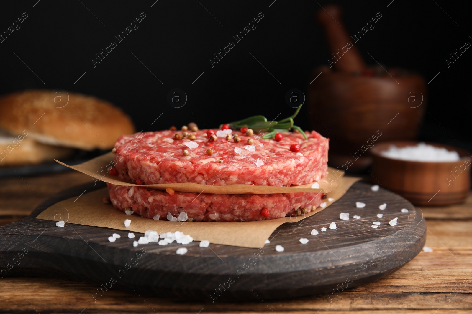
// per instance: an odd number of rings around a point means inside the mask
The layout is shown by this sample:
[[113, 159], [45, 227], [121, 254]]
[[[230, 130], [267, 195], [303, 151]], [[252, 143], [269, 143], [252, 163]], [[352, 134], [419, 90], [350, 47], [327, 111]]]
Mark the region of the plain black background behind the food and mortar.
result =
[[[281, 113], [279, 119], [285, 118], [293, 113], [284, 100], [287, 90], [298, 88], [306, 94], [312, 69], [328, 64], [325, 36], [314, 21], [315, 13], [327, 3], [4, 3], [0, 32], [23, 12], [28, 17], [19, 30], [0, 43], [0, 94], [41, 88], [95, 95], [123, 108], [138, 130], [168, 129], [171, 125], [179, 128], [190, 121], [211, 128], [253, 114], [273, 119]], [[356, 44], [367, 64], [376, 64], [370, 53], [386, 67], [421, 73], [426, 82], [440, 72], [428, 85], [429, 103], [420, 139], [470, 150], [472, 51], [467, 49], [449, 68], [446, 62], [455, 48], [464, 46], [465, 41], [472, 43], [468, 1], [336, 3], [344, 8], [344, 23], [350, 34], [360, 31], [377, 12], [382, 14], [375, 28]], [[118, 43], [114, 36], [141, 12], [146, 17], [139, 28]], [[264, 17], [257, 28], [212, 68], [212, 55], [234, 41], [232, 36], [259, 12]], [[110, 41], [117, 42], [118, 47], [94, 68], [92, 59]], [[188, 96], [182, 108], [173, 108], [167, 102], [167, 94], [174, 88], [185, 90]], [[309, 128], [306, 106], [296, 124]]]

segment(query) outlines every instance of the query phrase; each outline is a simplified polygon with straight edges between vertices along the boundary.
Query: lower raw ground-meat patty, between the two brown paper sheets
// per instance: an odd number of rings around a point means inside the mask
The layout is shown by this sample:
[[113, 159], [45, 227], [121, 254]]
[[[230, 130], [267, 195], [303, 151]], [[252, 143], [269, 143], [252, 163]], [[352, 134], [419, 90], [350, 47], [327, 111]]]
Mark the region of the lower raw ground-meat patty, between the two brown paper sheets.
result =
[[[197, 194], [175, 192], [170, 195], [160, 190], [141, 186], [112, 185], [108, 183], [110, 199], [116, 209], [132, 208], [143, 217], [160, 216], [167, 219], [186, 212], [194, 221], [254, 221], [282, 218], [295, 214], [295, 209], [320, 206], [323, 193], [285, 194]], [[263, 217], [261, 209], [269, 209], [269, 216]], [[129, 209], [128, 209], [129, 210]]]

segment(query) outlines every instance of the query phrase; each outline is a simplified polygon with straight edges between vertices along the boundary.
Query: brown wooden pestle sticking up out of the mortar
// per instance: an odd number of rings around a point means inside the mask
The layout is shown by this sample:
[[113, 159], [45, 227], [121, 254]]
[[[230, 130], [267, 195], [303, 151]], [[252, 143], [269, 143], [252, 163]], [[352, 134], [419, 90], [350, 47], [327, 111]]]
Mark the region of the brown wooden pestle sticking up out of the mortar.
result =
[[346, 28], [341, 24], [341, 17], [341, 8], [335, 5], [325, 6], [317, 14], [318, 23], [321, 24], [326, 32], [329, 49], [335, 54], [337, 59], [336, 61], [333, 55], [331, 55], [330, 60], [336, 62], [333, 66], [337, 71], [362, 72], [365, 70], [365, 63], [359, 50], [353, 45], [346, 52], [346, 44], [352, 41], [346, 32]]

